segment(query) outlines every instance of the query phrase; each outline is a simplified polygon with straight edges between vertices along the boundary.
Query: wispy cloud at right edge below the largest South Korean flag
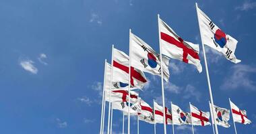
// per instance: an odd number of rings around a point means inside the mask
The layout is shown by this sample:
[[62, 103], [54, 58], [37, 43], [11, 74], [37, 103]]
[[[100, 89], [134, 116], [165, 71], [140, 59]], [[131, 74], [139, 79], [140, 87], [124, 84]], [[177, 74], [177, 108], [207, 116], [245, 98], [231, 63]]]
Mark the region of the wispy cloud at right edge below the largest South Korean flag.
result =
[[235, 64], [231, 68], [231, 73], [224, 78], [224, 82], [220, 88], [222, 90], [234, 90], [241, 88], [243, 90], [256, 90], [255, 82], [250, 76], [256, 73], [256, 67], [245, 64]]

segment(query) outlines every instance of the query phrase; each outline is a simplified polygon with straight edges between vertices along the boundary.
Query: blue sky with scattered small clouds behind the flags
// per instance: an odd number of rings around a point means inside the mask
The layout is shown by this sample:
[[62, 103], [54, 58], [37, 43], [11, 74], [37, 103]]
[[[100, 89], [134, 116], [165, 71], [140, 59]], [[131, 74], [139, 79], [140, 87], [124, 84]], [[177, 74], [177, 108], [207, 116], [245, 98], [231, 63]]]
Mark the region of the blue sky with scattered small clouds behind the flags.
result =
[[[146, 0], [0, 0], [0, 132], [98, 133], [104, 59], [110, 62], [111, 44], [128, 54], [129, 28], [159, 52], [157, 14], [184, 40], [201, 44], [195, 2], [226, 33], [238, 40], [232, 64], [207, 50], [214, 103], [229, 108], [228, 97], [246, 109], [251, 125], [236, 123], [238, 133], [256, 131], [256, 1], [146, 1]], [[200, 46], [201, 49], [201, 46]], [[193, 65], [170, 60], [166, 105], [189, 110], [189, 101], [209, 111], [203, 72]], [[143, 92], [146, 102], [161, 103], [160, 77]], [[113, 131], [121, 132], [121, 112], [114, 111]], [[136, 123], [132, 118], [131, 132]], [[127, 124], [125, 124], [127, 125]], [[220, 133], [234, 133], [218, 127]], [[157, 125], [162, 133], [162, 125]], [[191, 133], [190, 126], [175, 126]], [[212, 126], [195, 127], [211, 133]], [[154, 127], [140, 122], [141, 133]], [[171, 133], [171, 127], [167, 127]]]

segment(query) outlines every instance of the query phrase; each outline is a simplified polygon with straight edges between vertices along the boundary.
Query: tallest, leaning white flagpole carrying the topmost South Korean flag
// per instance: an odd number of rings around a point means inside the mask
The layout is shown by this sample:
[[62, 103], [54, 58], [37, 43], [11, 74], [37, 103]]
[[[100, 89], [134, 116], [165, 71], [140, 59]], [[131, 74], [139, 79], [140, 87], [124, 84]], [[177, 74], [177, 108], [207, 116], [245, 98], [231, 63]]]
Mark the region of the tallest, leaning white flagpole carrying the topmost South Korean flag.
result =
[[[196, 8], [198, 8], [197, 3], [195, 3], [195, 6], [196, 6]], [[198, 19], [198, 26], [199, 26], [200, 36], [201, 36], [201, 44], [202, 44], [202, 47], [203, 47], [203, 58], [204, 58], [204, 64], [205, 64], [205, 70], [206, 70], [206, 76], [207, 76], [207, 83], [208, 83], [210, 100], [211, 100], [212, 111], [213, 111], [213, 109], [214, 109], [214, 98], [212, 97], [212, 88], [211, 88], [210, 76], [209, 76], [209, 72], [208, 72], [208, 66], [207, 66], [204, 44], [203, 44], [202, 35], [201, 35], [201, 28], [200, 28], [198, 11], [197, 11], [197, 19]], [[215, 119], [215, 117], [214, 117], [214, 119]], [[218, 127], [217, 127], [217, 124], [215, 123], [215, 120], [214, 120], [214, 127], [215, 127], [215, 133], [218, 134]]]

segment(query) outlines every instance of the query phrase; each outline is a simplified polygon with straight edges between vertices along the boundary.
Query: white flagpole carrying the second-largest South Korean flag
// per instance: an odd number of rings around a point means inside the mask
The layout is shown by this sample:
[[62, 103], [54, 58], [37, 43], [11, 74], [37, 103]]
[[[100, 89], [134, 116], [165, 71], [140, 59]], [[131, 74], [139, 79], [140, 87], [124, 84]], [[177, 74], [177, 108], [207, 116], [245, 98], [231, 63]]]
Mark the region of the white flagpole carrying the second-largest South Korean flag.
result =
[[[131, 29], [129, 29], [129, 87], [128, 87], [128, 92], [129, 92], [129, 107], [130, 107], [130, 88], [131, 88]], [[128, 110], [128, 134], [130, 134], [130, 109]]]

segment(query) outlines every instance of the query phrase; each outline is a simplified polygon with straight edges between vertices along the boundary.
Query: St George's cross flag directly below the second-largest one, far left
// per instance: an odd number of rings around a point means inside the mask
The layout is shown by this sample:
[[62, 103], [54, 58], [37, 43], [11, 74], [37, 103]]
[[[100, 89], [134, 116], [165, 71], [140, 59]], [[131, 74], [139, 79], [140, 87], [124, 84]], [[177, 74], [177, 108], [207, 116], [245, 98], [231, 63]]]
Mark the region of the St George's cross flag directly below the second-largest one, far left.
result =
[[[136, 102], [137, 99], [138, 99], [137, 92], [131, 90], [130, 91], [130, 102], [131, 103]], [[110, 91], [106, 91], [106, 101], [115, 103], [115, 102], [126, 102], [128, 100], [129, 100], [128, 90], [114, 89], [114, 90], [111, 90], [111, 94], [110, 94]]]

